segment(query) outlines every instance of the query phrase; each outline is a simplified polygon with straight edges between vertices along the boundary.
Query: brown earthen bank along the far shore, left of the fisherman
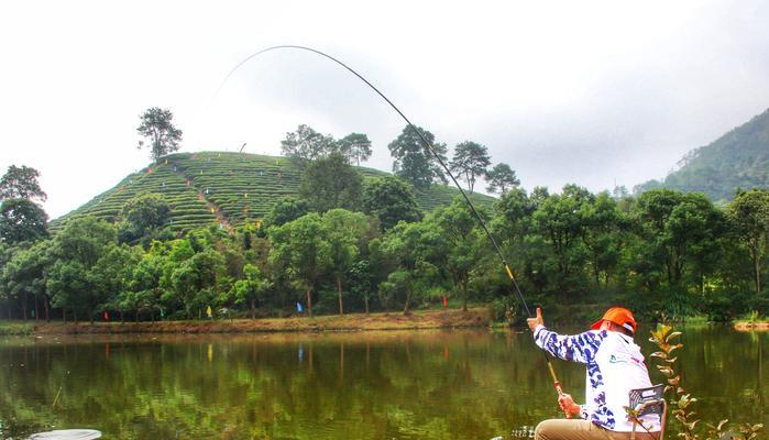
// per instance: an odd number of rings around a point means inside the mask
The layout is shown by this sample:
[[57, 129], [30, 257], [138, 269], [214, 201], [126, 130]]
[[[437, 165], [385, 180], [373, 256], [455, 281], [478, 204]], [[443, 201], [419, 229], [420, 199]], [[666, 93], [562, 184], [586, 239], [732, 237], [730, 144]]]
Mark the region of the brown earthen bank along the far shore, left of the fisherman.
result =
[[376, 312], [371, 315], [328, 315], [319, 317], [219, 319], [210, 321], [156, 321], [156, 322], [23, 322], [3, 323], [19, 328], [19, 332], [6, 334], [130, 334], [130, 333], [296, 333], [323, 331], [420, 330], [487, 327], [490, 311], [486, 308], [449, 310], [417, 310], [403, 312]]

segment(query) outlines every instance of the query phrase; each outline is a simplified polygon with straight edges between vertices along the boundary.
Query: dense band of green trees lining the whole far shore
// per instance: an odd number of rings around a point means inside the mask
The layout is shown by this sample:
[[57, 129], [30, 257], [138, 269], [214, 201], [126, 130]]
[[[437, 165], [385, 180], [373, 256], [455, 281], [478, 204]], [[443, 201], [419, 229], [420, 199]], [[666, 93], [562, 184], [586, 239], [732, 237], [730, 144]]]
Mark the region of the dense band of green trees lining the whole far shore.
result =
[[[44, 196], [29, 179], [32, 190], [14, 187], [22, 169], [9, 168], [0, 187], [3, 318], [197, 319], [208, 307], [285, 316], [297, 302], [310, 316], [408, 312], [443, 297], [490, 305], [498, 318], [518, 307], [462, 200], [422, 212], [411, 185], [394, 176], [327, 197], [333, 188], [317, 190], [326, 177], [358, 173], [333, 154], [309, 164], [300, 198], [231, 233], [172, 233], [167, 202], [149, 194], [127, 202], [118, 223], [83, 217], [48, 237], [44, 221], [19, 221], [26, 209], [18, 207], [42, 212], [31, 198]], [[769, 311], [766, 190], [715, 206], [669, 189], [630, 197], [513, 186], [481, 213], [526, 295], [552, 308], [622, 302], [641, 316], [711, 319]]]

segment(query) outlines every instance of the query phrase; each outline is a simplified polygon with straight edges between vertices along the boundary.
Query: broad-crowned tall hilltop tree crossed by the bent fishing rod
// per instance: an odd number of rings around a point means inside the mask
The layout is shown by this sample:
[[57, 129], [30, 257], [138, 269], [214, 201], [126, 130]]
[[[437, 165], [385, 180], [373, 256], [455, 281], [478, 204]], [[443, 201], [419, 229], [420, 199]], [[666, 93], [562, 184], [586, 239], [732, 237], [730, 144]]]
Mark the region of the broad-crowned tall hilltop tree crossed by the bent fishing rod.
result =
[[[425, 140], [446, 162], [446, 144], [436, 143], [436, 136], [429, 131], [416, 128]], [[432, 154], [424, 146], [419, 135], [410, 127], [404, 128], [398, 138], [387, 145], [393, 162], [393, 172], [398, 177], [411, 183], [416, 188], [427, 188], [433, 182], [446, 183], [446, 176]]]

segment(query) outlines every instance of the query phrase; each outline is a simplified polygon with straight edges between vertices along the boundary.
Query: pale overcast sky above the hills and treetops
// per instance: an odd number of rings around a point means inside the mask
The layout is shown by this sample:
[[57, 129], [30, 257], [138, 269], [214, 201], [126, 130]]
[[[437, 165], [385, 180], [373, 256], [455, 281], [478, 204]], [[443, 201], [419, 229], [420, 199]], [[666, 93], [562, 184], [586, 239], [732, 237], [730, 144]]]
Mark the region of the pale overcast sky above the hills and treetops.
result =
[[769, 107], [761, 1], [0, 2], [0, 168], [42, 173], [52, 218], [149, 163], [139, 114], [182, 151], [279, 153], [307, 123], [367, 133], [391, 169], [404, 127], [348, 63], [453, 147], [486, 145], [526, 188], [631, 188]]

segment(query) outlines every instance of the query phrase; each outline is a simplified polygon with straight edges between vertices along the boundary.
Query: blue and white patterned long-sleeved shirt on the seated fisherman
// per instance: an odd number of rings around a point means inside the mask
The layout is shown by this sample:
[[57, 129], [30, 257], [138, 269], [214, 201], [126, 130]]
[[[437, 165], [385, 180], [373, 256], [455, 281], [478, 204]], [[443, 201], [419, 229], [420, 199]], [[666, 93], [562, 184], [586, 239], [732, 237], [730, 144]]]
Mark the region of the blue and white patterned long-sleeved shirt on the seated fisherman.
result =
[[[586, 365], [582, 418], [613, 431], [633, 430], [625, 411], [630, 389], [651, 386], [644, 355], [633, 338], [608, 330], [561, 336], [537, 326], [534, 340], [556, 358]], [[645, 416], [641, 420], [650, 431], [660, 430], [658, 416]]]

